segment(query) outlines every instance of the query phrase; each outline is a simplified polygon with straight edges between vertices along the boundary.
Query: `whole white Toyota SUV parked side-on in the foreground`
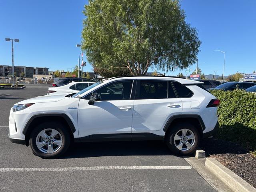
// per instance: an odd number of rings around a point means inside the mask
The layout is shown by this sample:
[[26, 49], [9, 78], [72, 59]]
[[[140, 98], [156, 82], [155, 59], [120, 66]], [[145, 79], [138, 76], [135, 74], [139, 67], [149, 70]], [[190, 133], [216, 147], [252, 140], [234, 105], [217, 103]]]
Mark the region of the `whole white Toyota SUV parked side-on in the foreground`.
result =
[[116, 77], [72, 97], [18, 102], [8, 137], [42, 158], [64, 154], [71, 142], [164, 140], [179, 155], [193, 153], [218, 127], [219, 100], [202, 82], [173, 77]]

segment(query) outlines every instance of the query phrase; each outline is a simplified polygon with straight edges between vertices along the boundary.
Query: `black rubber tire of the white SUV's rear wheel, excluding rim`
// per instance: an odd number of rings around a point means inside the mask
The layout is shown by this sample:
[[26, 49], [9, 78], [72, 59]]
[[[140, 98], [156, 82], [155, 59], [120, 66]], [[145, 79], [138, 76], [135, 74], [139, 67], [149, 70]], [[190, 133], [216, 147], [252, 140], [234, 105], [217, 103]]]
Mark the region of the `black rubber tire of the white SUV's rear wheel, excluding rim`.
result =
[[[175, 134], [182, 129], [188, 129], [189, 131], [191, 131], [194, 134], [194, 144], [192, 146], [192, 148], [190, 148], [189, 150], [179, 150], [176, 147], [176, 144], [174, 143], [174, 136]], [[188, 132], [189, 133], [189, 132]], [[197, 128], [195, 128], [192, 124], [190, 123], [186, 123], [186, 122], [181, 122], [181, 123], [177, 123], [174, 126], [170, 127], [168, 129], [168, 131], [166, 132], [166, 136], [165, 136], [165, 142], [168, 146], [168, 148], [175, 154], [178, 155], [190, 155], [192, 153], [194, 153], [196, 151], [196, 148], [198, 147], [199, 144], [199, 140], [200, 140], [200, 135], [199, 132], [197, 130]], [[179, 141], [176, 141], [179, 142]], [[180, 141], [181, 142], [181, 141]], [[192, 142], [192, 140], [189, 140], [189, 142]], [[185, 147], [186, 144], [184, 143]]]

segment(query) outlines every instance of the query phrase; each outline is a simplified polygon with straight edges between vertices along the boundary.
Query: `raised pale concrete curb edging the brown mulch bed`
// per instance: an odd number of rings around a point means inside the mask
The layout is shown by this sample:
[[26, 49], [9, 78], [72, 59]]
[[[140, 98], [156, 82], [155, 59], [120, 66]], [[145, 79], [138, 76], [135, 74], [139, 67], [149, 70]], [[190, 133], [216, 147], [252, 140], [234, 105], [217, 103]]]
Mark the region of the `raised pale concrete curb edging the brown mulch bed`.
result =
[[205, 166], [235, 192], [256, 192], [256, 189], [214, 158], [206, 158]]

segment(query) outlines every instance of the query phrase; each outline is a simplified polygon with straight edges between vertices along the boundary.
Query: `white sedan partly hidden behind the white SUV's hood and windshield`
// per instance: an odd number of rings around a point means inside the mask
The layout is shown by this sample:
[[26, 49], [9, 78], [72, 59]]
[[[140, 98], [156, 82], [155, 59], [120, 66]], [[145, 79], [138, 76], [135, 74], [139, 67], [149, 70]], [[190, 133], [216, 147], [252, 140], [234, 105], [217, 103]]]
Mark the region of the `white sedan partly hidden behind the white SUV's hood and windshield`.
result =
[[72, 82], [60, 87], [49, 87], [47, 95], [52, 96], [78, 93], [92, 84], [95, 84], [95, 82]]

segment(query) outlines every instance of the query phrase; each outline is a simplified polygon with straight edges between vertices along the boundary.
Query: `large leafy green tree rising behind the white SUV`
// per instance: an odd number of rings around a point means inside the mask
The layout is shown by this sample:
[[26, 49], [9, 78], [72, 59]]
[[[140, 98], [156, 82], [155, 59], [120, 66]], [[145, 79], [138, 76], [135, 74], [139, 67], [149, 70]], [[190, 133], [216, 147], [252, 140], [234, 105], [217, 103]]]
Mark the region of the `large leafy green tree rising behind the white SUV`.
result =
[[82, 48], [94, 67], [144, 75], [196, 61], [201, 42], [178, 0], [90, 0], [84, 15]]

